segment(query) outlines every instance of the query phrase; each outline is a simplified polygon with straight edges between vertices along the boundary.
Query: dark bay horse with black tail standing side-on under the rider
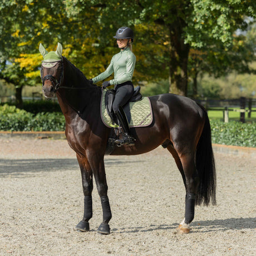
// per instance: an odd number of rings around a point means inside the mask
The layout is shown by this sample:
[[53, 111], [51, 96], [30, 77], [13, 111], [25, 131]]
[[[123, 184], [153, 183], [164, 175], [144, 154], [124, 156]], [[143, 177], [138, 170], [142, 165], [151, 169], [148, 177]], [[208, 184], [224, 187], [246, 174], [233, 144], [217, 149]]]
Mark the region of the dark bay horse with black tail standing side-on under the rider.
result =
[[[44, 48], [43, 48], [44, 49]], [[42, 53], [42, 52], [41, 52]], [[46, 55], [43, 52], [42, 55]], [[76, 229], [90, 229], [94, 176], [99, 193], [103, 221], [97, 230], [109, 234], [111, 209], [107, 196], [104, 155], [111, 129], [100, 117], [102, 89], [91, 85], [83, 73], [62, 56], [52, 63], [42, 62], [41, 78], [45, 97], [57, 95], [66, 120], [68, 144], [77, 155], [81, 169], [84, 213]], [[45, 65], [44, 65], [45, 63]], [[163, 94], [149, 97], [153, 122], [147, 127], [131, 128], [135, 146], [121, 146], [111, 155], [143, 154], [163, 145], [175, 159], [185, 185], [185, 218], [178, 229], [189, 233], [195, 205], [215, 204], [215, 164], [211, 146], [211, 130], [204, 108], [188, 97]]]

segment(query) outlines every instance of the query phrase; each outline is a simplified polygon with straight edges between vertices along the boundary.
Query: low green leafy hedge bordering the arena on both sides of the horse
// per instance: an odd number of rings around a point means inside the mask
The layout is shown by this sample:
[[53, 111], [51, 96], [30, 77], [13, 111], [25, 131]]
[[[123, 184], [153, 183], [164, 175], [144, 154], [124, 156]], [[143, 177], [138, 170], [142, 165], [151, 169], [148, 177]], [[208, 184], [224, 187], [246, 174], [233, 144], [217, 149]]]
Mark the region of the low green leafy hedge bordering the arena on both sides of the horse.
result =
[[[210, 119], [212, 142], [216, 144], [256, 147], [256, 122], [224, 123]], [[0, 106], [1, 131], [63, 131], [65, 118], [60, 112], [32, 114], [14, 106]]]

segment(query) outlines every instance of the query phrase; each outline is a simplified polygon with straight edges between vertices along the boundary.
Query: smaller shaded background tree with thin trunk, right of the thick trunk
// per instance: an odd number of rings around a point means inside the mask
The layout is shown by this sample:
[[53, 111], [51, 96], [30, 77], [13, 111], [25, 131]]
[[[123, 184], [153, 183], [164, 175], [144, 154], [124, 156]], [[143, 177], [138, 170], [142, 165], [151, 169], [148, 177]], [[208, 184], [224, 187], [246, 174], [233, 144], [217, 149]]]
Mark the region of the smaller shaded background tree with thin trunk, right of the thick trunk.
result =
[[191, 48], [189, 53], [189, 77], [193, 79], [193, 97], [197, 93], [198, 75], [208, 74], [219, 78], [232, 72], [255, 73], [250, 65], [256, 61], [252, 40], [248, 40], [247, 34], [234, 35], [232, 49], [223, 48], [222, 45], [212, 45], [210, 48], [202, 47], [199, 50]]

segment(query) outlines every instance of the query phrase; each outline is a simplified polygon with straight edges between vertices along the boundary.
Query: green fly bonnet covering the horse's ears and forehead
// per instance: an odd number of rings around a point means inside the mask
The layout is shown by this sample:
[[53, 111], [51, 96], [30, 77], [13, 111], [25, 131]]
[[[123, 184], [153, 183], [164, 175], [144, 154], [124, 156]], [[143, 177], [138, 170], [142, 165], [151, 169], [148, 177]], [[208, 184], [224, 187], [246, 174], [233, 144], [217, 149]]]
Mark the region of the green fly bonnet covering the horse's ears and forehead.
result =
[[58, 43], [56, 52], [47, 52], [42, 43], [40, 43], [39, 51], [43, 56], [42, 66], [46, 68], [54, 67], [58, 61], [61, 61], [62, 49], [61, 43]]

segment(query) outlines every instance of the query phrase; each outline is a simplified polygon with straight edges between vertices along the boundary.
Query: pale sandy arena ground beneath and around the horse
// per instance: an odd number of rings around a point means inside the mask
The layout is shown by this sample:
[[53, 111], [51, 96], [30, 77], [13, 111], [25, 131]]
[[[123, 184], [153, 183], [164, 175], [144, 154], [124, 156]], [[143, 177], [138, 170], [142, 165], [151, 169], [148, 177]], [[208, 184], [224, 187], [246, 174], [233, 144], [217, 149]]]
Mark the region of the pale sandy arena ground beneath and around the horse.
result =
[[105, 159], [111, 234], [93, 190], [91, 231], [80, 171], [66, 140], [0, 137], [0, 255], [255, 255], [255, 160], [215, 154], [217, 206], [197, 206], [192, 232], [176, 234], [185, 190], [169, 152]]

